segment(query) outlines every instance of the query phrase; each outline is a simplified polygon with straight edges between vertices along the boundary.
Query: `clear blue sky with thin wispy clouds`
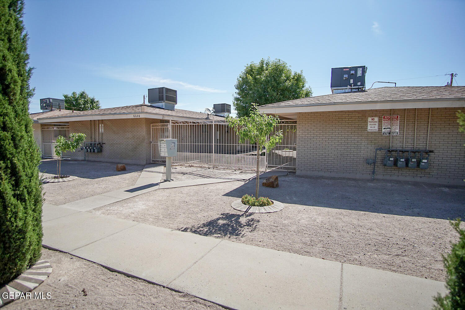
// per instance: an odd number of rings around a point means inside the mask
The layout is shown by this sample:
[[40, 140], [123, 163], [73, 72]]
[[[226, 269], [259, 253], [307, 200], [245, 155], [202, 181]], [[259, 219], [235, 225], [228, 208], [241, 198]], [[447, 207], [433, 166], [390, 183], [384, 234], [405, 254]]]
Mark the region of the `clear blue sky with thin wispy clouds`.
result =
[[167, 86], [177, 108], [203, 112], [232, 104], [244, 66], [266, 57], [303, 70], [314, 96], [331, 93], [340, 66], [367, 66], [368, 86], [441, 86], [451, 72], [465, 85], [464, 13], [461, 0], [26, 0], [29, 111], [81, 90], [104, 108], [140, 104]]

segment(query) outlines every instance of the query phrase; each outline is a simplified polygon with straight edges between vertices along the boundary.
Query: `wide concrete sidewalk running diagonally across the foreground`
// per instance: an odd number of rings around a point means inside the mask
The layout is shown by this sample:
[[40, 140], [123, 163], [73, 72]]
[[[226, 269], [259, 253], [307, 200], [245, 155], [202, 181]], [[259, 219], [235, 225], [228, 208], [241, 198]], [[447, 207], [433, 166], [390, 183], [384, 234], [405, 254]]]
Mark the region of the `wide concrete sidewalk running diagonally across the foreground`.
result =
[[431, 309], [443, 282], [44, 204], [43, 245], [230, 309]]

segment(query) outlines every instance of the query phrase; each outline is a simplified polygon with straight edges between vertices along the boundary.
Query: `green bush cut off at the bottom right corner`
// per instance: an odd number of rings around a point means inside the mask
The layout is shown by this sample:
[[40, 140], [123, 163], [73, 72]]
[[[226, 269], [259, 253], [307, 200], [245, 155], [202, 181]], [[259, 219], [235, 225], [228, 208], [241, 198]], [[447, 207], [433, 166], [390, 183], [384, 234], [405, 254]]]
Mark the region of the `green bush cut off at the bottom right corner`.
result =
[[452, 227], [459, 234], [458, 243], [452, 243], [452, 250], [443, 255], [444, 267], [447, 272], [445, 286], [449, 293], [434, 297], [437, 303], [434, 310], [465, 310], [465, 231], [460, 229], [460, 219], [452, 222]]

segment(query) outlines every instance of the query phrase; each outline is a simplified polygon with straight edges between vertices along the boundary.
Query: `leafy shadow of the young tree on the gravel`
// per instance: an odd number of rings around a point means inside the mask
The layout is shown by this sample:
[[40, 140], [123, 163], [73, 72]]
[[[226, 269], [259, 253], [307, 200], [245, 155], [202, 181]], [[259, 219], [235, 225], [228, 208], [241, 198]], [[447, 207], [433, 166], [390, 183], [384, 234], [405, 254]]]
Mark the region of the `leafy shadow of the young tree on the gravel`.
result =
[[183, 227], [179, 231], [202, 236], [241, 237], [257, 228], [260, 220], [250, 218], [252, 215], [253, 213], [221, 213], [218, 218], [191, 227]]

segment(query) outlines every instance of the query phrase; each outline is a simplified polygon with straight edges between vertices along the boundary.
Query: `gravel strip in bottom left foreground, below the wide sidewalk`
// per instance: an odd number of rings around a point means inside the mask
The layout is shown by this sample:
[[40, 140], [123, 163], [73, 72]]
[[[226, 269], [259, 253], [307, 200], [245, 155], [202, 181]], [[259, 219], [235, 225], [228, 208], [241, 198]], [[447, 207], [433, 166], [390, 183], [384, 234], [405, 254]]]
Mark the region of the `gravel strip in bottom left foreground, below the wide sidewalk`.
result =
[[33, 292], [43, 292], [44, 296], [50, 292], [52, 298], [20, 299], [3, 309], [224, 309], [66, 253], [42, 249], [41, 259], [48, 260], [53, 270]]

